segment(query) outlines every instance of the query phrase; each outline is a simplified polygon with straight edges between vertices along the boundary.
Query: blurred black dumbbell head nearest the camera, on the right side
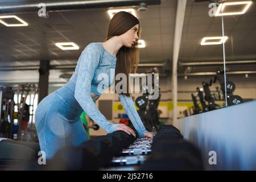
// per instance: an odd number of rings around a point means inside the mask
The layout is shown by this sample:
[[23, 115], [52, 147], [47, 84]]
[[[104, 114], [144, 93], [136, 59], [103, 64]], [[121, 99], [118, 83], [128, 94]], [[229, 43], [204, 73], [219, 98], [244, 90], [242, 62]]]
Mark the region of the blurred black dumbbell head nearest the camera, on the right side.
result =
[[150, 158], [139, 170], [203, 170], [203, 160], [197, 147], [186, 140], [154, 142]]

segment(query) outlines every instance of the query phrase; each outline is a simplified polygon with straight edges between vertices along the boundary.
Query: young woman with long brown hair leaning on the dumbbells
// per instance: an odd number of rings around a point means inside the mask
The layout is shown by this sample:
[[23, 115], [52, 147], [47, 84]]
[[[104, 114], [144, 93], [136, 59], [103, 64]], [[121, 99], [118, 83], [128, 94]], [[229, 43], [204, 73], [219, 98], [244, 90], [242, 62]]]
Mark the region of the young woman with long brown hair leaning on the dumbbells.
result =
[[[114, 70], [114, 75], [124, 73], [129, 78], [129, 73], [136, 72], [139, 62], [138, 34], [139, 20], [135, 16], [125, 11], [115, 14], [109, 23], [106, 42], [88, 44], [67, 84], [40, 102], [35, 124], [40, 148], [46, 152], [47, 159], [66, 145], [78, 146], [88, 140], [80, 121], [83, 110], [108, 133], [122, 130], [135, 137], [130, 127], [110, 123], [94, 102], [114, 81], [114, 78], [110, 78], [102, 88], [99, 86], [101, 80], [98, 80], [101, 73], [110, 77], [110, 72]], [[119, 98], [138, 137], [152, 138], [152, 134], [143, 126], [130, 94], [119, 93]]]

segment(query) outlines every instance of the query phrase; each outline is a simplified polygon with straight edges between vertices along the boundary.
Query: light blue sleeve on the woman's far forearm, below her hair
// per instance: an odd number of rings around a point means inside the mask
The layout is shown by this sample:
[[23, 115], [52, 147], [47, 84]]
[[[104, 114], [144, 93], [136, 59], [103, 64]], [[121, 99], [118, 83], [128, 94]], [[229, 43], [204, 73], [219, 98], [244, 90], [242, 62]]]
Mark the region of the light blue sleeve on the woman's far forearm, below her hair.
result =
[[148, 132], [142, 121], [139, 117], [139, 114], [134, 106], [133, 99], [131, 97], [119, 94], [120, 101], [122, 102], [123, 107], [125, 108], [125, 111], [131, 120], [131, 123], [133, 123], [133, 126], [135, 127], [136, 131], [138, 132], [139, 138], [144, 137], [144, 133]]

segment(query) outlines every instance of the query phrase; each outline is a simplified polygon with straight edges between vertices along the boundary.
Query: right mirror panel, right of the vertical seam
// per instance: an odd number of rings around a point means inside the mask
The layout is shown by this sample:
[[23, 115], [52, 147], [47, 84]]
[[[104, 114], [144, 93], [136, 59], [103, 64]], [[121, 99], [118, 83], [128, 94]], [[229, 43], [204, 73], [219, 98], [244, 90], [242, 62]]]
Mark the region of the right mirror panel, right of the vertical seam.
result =
[[220, 6], [227, 38], [224, 92], [226, 106], [232, 106], [256, 97], [256, 8], [253, 1], [222, 2]]

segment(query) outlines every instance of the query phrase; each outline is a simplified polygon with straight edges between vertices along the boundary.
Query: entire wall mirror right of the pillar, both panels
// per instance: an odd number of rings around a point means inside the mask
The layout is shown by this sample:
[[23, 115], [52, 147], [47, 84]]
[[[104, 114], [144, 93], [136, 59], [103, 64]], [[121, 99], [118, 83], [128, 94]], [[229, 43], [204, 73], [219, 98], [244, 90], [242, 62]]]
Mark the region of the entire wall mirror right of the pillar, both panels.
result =
[[253, 1], [187, 1], [178, 61], [178, 118], [256, 97]]

